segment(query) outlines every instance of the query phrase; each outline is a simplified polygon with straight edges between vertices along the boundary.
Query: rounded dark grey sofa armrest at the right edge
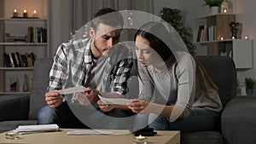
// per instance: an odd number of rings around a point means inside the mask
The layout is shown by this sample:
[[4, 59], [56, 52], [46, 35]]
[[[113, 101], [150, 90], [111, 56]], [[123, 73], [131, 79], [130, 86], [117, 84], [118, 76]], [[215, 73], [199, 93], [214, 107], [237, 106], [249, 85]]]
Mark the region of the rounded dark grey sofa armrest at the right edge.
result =
[[256, 143], [256, 96], [236, 96], [222, 112], [221, 128], [227, 144]]

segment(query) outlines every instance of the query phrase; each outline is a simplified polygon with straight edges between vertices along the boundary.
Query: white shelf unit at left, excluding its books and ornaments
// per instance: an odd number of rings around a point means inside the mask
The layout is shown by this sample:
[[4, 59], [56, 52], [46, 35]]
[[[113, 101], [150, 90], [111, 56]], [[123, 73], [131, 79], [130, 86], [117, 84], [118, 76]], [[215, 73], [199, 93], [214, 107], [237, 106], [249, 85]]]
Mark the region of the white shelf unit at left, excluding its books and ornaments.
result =
[[[36, 59], [49, 56], [49, 40], [45, 43], [26, 43], [26, 42], [6, 42], [6, 33], [16, 36], [25, 36], [28, 27], [43, 27], [49, 34], [47, 19], [31, 18], [0, 18], [0, 95], [29, 94], [24, 92], [22, 85], [24, 83], [24, 74], [29, 78], [29, 89], [32, 84], [33, 67], [7, 67], [3, 60], [3, 54], [18, 52], [20, 55], [33, 53]], [[10, 89], [10, 81], [17, 82], [17, 90]]]

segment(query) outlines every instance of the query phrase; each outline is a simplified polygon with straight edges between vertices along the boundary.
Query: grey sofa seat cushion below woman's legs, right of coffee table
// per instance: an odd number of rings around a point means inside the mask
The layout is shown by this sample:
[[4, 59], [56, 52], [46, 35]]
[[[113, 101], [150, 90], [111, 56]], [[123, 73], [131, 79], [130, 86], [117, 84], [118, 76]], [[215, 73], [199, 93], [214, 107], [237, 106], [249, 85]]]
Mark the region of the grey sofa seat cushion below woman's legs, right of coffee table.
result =
[[222, 144], [223, 137], [218, 131], [198, 131], [181, 134], [181, 144]]

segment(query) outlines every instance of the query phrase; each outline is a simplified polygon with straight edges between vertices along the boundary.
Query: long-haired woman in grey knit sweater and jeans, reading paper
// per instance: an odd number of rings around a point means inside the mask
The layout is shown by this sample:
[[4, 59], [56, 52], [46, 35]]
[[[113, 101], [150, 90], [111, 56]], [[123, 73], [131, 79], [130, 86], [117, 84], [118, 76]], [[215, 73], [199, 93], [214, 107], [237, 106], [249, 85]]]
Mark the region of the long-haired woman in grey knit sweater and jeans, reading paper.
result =
[[136, 33], [140, 93], [126, 106], [148, 115], [154, 130], [212, 130], [222, 104], [218, 87], [171, 26], [148, 22]]

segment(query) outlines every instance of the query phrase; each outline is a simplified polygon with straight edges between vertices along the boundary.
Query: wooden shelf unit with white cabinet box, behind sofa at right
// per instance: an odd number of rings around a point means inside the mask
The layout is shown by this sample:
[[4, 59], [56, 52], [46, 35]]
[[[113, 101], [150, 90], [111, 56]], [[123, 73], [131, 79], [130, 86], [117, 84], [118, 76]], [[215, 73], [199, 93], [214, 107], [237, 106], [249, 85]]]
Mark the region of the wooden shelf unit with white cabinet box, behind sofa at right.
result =
[[229, 55], [237, 69], [253, 68], [253, 40], [241, 39], [241, 32], [238, 32], [238, 39], [233, 39], [230, 32], [230, 22], [236, 21], [236, 14], [206, 15], [197, 20], [204, 20], [203, 25], [207, 27], [216, 26], [216, 40], [195, 42], [206, 47], [206, 55]]

